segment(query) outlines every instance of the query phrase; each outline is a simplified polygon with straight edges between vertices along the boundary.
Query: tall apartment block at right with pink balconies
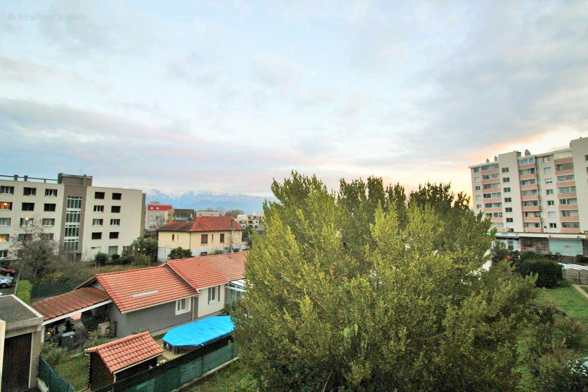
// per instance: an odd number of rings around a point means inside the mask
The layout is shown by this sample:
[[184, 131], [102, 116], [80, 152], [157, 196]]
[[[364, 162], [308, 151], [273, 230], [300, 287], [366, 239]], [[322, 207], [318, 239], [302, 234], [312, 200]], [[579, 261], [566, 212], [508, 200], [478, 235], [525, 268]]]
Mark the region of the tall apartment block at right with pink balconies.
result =
[[490, 217], [497, 238], [509, 247], [566, 256], [586, 253], [588, 139], [535, 155], [528, 150], [504, 153], [469, 168], [474, 212]]

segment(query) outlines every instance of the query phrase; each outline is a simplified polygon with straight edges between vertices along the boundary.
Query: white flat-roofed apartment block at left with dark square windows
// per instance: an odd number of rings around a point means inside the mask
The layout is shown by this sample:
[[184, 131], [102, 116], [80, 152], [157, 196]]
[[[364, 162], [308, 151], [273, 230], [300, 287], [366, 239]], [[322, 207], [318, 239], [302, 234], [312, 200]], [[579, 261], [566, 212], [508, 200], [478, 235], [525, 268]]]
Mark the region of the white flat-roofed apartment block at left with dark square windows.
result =
[[14, 257], [12, 242], [36, 226], [72, 259], [119, 254], [145, 226], [141, 190], [92, 186], [92, 176], [57, 179], [0, 176], [0, 259]]

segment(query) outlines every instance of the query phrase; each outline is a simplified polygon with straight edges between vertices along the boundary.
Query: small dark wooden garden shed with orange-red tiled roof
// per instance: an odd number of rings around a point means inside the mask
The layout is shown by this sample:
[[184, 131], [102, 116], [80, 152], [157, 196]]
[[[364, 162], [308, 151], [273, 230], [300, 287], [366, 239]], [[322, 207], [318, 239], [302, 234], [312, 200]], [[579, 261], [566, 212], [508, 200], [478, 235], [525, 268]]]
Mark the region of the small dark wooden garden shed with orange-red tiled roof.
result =
[[157, 366], [157, 357], [163, 349], [149, 332], [143, 332], [84, 352], [90, 354], [88, 387], [95, 390]]

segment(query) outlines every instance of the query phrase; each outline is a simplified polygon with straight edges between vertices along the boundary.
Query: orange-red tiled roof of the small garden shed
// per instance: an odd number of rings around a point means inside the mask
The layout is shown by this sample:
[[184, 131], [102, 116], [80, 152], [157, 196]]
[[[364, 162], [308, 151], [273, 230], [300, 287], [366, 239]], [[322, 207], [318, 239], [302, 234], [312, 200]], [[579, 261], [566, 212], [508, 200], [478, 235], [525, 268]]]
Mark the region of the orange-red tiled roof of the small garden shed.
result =
[[123, 337], [83, 350], [84, 353], [98, 353], [111, 373], [121, 371], [136, 363], [154, 358], [163, 353], [149, 332]]

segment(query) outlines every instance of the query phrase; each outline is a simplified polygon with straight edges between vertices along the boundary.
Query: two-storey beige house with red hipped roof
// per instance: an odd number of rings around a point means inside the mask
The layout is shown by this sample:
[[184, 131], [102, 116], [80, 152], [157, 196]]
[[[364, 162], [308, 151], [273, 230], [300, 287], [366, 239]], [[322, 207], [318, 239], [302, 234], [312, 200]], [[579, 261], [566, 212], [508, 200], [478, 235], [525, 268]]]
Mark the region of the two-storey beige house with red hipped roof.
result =
[[159, 227], [158, 260], [164, 262], [176, 247], [192, 250], [193, 256], [215, 251], [239, 252], [243, 226], [230, 216], [198, 216], [193, 220], [174, 221]]

